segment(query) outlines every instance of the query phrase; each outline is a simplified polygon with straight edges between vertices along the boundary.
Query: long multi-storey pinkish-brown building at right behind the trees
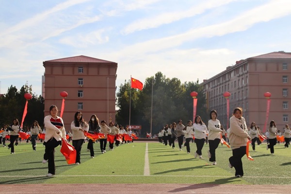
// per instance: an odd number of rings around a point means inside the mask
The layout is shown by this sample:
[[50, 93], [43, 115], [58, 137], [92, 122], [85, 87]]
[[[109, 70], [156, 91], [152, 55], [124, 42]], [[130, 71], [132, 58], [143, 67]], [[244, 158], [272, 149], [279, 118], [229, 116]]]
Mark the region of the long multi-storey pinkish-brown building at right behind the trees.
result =
[[243, 117], [248, 127], [252, 122], [263, 130], [266, 119], [267, 101], [265, 92], [270, 92], [271, 106], [267, 127], [274, 120], [282, 130], [290, 123], [291, 116], [291, 53], [283, 51], [262, 54], [236, 62], [225, 71], [203, 80], [201, 85], [207, 98], [207, 108], [218, 112], [218, 119], [226, 128], [226, 99], [229, 91], [229, 117], [235, 107], [243, 108]]

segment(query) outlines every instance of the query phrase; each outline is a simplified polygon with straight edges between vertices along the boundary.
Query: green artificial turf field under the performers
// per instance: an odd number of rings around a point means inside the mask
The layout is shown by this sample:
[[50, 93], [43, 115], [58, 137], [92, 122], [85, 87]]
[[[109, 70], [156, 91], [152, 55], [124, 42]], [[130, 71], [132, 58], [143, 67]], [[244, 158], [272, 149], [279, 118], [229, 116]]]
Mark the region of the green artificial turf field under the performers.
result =
[[[108, 143], [109, 144], [109, 143]], [[95, 158], [90, 158], [87, 143], [81, 151], [81, 164], [68, 165], [60, 153], [55, 152], [56, 176], [46, 177], [48, 164], [42, 164], [44, 147], [37, 143], [32, 151], [31, 143], [15, 146], [16, 154], [0, 147], [0, 184], [60, 184], [60, 183], [184, 183], [184, 184], [291, 184], [291, 148], [275, 145], [275, 155], [266, 150], [266, 143], [256, 145], [250, 151], [254, 161], [242, 158], [244, 177], [234, 177], [234, 168], [228, 167], [230, 148], [221, 146], [216, 150], [217, 165], [210, 165], [207, 144], [203, 147], [203, 159], [195, 159], [195, 143], [190, 143], [191, 153], [186, 148], [179, 151], [158, 142], [148, 142], [149, 176], [144, 176], [146, 142], [133, 142], [115, 147], [114, 151], [101, 154], [99, 143], [94, 144]], [[108, 147], [108, 145], [107, 145]], [[250, 150], [252, 150], [250, 146]]]

